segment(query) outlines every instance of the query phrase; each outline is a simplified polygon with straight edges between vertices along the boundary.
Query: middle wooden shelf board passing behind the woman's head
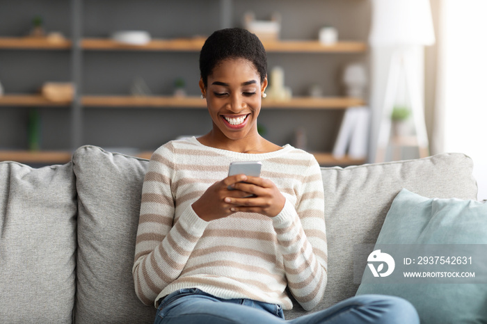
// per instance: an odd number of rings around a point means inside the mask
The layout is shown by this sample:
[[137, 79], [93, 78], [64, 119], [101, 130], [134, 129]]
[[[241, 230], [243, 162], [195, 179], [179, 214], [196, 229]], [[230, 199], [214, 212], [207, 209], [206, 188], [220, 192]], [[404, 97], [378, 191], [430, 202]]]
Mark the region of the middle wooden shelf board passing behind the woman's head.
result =
[[[176, 107], [176, 108], [206, 108], [206, 101], [200, 97], [131, 97], [131, 96], [83, 96], [83, 106], [99, 107]], [[362, 106], [362, 99], [347, 97], [295, 97], [289, 100], [262, 100], [263, 108], [308, 108], [308, 109], [337, 109], [350, 106]]]

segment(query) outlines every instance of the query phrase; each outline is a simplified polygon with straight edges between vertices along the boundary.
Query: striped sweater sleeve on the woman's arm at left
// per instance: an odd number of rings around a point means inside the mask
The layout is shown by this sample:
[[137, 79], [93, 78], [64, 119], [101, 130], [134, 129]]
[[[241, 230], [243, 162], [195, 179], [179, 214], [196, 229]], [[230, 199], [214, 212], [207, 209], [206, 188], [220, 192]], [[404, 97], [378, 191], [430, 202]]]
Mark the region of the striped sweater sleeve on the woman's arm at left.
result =
[[154, 305], [164, 287], [179, 277], [207, 226], [191, 206], [173, 224], [175, 175], [175, 154], [168, 143], [152, 154], [142, 188], [132, 274], [145, 305]]

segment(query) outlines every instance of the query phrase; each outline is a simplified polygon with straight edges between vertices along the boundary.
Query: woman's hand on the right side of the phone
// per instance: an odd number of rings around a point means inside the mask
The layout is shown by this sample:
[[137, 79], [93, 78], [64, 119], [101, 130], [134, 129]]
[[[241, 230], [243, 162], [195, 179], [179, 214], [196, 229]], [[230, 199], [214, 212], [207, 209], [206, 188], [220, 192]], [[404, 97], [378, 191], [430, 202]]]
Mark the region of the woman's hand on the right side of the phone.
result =
[[277, 216], [286, 198], [280, 193], [276, 184], [269, 179], [260, 177], [247, 177], [246, 183], [238, 182], [232, 187], [251, 197], [225, 197], [227, 204], [232, 204], [230, 211], [244, 211], [249, 213], [262, 213], [268, 217]]

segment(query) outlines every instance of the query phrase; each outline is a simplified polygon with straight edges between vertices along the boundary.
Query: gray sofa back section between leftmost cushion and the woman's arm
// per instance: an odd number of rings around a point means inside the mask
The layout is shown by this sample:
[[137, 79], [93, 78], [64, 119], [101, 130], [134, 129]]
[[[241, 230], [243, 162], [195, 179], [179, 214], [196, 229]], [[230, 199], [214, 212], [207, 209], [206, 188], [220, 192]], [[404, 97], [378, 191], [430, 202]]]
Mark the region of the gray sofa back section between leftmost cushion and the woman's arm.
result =
[[153, 323], [131, 273], [147, 160], [80, 147], [73, 155], [79, 202], [75, 323]]

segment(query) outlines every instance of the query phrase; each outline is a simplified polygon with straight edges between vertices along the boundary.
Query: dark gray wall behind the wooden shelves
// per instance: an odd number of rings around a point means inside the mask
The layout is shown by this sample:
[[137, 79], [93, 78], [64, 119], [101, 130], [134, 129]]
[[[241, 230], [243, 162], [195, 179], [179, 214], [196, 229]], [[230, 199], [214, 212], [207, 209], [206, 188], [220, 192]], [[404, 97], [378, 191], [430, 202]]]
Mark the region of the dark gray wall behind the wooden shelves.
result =
[[[209, 35], [222, 22], [218, 0], [83, 1], [83, 37], [108, 37], [117, 30], [143, 29], [154, 38]], [[366, 40], [368, 0], [234, 0], [232, 26], [253, 10], [257, 19], [273, 11], [282, 15], [282, 39], [317, 39], [324, 24], [336, 26], [342, 40]], [[70, 1], [0, 0], [0, 36], [28, 33], [34, 15], [42, 15], [47, 31], [70, 37]], [[367, 62], [367, 54], [270, 53], [269, 68], [285, 68], [286, 85], [294, 95], [306, 95], [317, 83], [324, 95], [342, 95], [344, 65]], [[35, 92], [45, 81], [70, 81], [70, 51], [0, 49], [0, 82], [8, 93]], [[198, 53], [83, 51], [81, 84], [86, 95], [123, 95], [141, 76], [156, 95], [170, 95], [174, 80], [186, 81], [189, 95], [199, 95]], [[0, 148], [26, 148], [29, 108], [0, 107]], [[70, 149], [70, 109], [40, 108], [42, 149]], [[294, 131], [307, 131], [308, 148], [330, 151], [340, 126], [341, 111], [263, 110], [260, 123], [266, 138], [292, 143]], [[202, 134], [211, 128], [204, 109], [83, 108], [83, 144], [154, 150], [179, 135]]]

